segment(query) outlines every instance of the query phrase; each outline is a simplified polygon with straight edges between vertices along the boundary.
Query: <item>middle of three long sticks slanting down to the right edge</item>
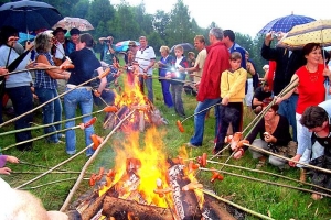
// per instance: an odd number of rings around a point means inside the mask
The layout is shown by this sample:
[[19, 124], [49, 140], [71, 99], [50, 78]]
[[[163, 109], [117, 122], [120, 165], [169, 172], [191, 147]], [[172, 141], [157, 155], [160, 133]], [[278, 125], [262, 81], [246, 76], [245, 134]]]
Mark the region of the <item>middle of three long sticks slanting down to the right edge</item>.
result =
[[291, 178], [291, 177], [288, 177], [288, 176], [284, 176], [284, 175], [280, 175], [280, 174], [274, 174], [271, 172], [265, 172], [265, 170], [260, 170], [260, 169], [253, 169], [253, 168], [247, 168], [247, 167], [243, 167], [243, 166], [236, 166], [236, 165], [226, 164], [226, 163], [216, 162], [216, 161], [210, 161], [210, 160], [207, 160], [207, 162], [212, 163], [212, 164], [220, 164], [220, 165], [224, 165], [224, 166], [228, 166], [228, 167], [234, 167], [234, 168], [238, 168], [238, 169], [243, 169], [243, 170], [249, 170], [249, 172], [254, 172], [254, 173], [266, 174], [266, 175], [269, 175], [269, 176], [276, 176], [276, 177], [280, 177], [280, 178], [284, 178], [284, 179], [291, 180], [291, 182], [297, 182], [298, 184], [301, 184], [301, 185], [307, 185], [307, 186], [320, 188], [322, 190], [331, 193], [331, 189], [328, 189], [328, 188], [324, 188], [324, 187], [321, 187], [321, 186], [318, 186], [318, 185], [314, 185], [314, 184], [306, 183], [306, 182], [302, 183], [299, 179], [295, 179], [295, 178]]

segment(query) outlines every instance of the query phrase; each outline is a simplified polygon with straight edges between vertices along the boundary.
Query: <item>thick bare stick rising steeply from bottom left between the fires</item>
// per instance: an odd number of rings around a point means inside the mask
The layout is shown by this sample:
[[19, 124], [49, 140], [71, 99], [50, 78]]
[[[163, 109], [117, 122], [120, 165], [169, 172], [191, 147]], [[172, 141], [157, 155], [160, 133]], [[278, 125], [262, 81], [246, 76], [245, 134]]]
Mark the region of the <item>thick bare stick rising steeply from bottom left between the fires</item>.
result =
[[[110, 131], [110, 133], [105, 138], [105, 140], [100, 143], [100, 145], [97, 147], [97, 150], [94, 152], [94, 154], [88, 158], [88, 161], [85, 163], [85, 165], [82, 168], [81, 175], [78, 176], [75, 185], [70, 190], [70, 194], [67, 195], [64, 204], [62, 205], [60, 211], [64, 211], [66, 207], [68, 206], [68, 202], [71, 201], [72, 197], [74, 196], [75, 191], [78, 189], [81, 182], [83, 180], [83, 177], [86, 173], [87, 167], [94, 162], [103, 146], [108, 142], [110, 136], [116, 132], [116, 130], [128, 119], [131, 117], [132, 113], [135, 113], [137, 109], [131, 110], [121, 121], [117, 123], [117, 125]], [[93, 145], [93, 144], [90, 144]]]

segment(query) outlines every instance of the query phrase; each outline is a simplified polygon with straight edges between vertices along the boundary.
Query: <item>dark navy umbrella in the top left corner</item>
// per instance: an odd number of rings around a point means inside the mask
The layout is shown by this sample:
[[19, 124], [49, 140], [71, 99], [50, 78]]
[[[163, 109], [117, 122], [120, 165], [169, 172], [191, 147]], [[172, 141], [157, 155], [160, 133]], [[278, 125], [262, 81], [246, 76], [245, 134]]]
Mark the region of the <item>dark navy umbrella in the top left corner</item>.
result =
[[0, 26], [13, 26], [20, 32], [51, 29], [61, 19], [61, 13], [44, 2], [22, 0], [0, 7]]

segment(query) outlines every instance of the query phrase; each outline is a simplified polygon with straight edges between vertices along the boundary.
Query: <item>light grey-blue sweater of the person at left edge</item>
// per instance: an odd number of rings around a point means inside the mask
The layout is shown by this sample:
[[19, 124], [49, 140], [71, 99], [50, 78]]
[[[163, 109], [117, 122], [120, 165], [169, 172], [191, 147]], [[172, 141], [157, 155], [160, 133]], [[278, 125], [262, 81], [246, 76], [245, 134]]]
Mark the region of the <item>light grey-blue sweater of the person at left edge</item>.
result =
[[[7, 45], [2, 45], [0, 47], [0, 66], [6, 66], [9, 51], [10, 51], [10, 47]], [[19, 57], [19, 54], [14, 50], [11, 50], [8, 65], [18, 57]], [[29, 63], [29, 59], [30, 59], [30, 54], [28, 54], [25, 56], [25, 58], [19, 64], [19, 66], [15, 68], [15, 70], [24, 69]], [[32, 77], [31, 77], [30, 72], [23, 72], [20, 74], [9, 75], [9, 78], [6, 79], [6, 88], [30, 86], [31, 82], [32, 82]]]

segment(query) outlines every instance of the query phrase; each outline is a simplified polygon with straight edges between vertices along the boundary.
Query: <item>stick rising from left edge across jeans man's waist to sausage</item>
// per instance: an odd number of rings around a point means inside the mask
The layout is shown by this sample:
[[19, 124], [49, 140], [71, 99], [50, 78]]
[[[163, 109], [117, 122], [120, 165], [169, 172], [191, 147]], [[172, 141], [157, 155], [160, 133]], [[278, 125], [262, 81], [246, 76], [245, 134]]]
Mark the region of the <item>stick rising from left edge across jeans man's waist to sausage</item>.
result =
[[32, 112], [35, 111], [36, 109], [40, 109], [40, 108], [46, 106], [47, 103], [54, 101], [55, 99], [58, 99], [58, 98], [63, 97], [64, 95], [66, 95], [66, 94], [68, 94], [68, 92], [71, 92], [71, 91], [73, 91], [73, 90], [75, 90], [76, 88], [79, 88], [79, 87], [84, 86], [85, 84], [88, 84], [88, 82], [90, 82], [90, 81], [93, 81], [93, 80], [95, 80], [95, 79], [97, 79], [97, 78], [99, 78], [99, 79], [104, 78], [104, 77], [107, 76], [109, 73], [110, 73], [110, 68], [107, 68], [102, 75], [96, 76], [96, 77], [93, 77], [92, 79], [88, 79], [88, 80], [86, 80], [86, 81], [79, 84], [78, 86], [75, 86], [75, 87], [73, 87], [72, 89], [66, 90], [65, 92], [58, 95], [57, 97], [54, 97], [53, 99], [50, 99], [49, 101], [45, 101], [44, 103], [42, 103], [42, 105], [35, 107], [34, 109], [31, 109], [30, 111], [26, 111], [25, 113], [22, 113], [22, 114], [20, 114], [20, 116], [18, 116], [18, 117], [13, 118], [13, 119], [11, 119], [11, 120], [8, 120], [8, 121], [3, 122], [2, 124], [0, 124], [0, 128], [4, 127], [6, 124], [9, 124], [9, 123], [11, 123], [11, 122], [13, 122], [13, 121], [17, 121], [18, 119], [21, 119], [21, 118], [25, 117], [26, 114], [32, 113]]

